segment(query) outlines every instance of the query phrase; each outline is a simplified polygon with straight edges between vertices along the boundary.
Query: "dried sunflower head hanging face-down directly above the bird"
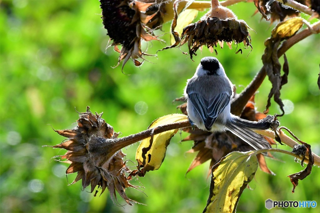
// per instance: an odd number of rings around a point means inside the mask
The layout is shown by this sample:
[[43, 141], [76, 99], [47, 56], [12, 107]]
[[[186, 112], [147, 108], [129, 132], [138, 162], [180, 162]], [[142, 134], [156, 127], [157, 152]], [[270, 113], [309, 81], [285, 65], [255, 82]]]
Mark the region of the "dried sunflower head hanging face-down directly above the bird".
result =
[[[190, 58], [196, 55], [198, 49], [202, 50], [203, 45], [207, 46], [210, 52], [213, 52], [218, 43], [223, 48], [223, 42], [226, 42], [230, 49], [232, 42], [243, 42], [245, 47], [252, 48], [248, 32], [250, 27], [245, 21], [238, 20], [236, 15], [230, 9], [221, 6], [218, 0], [212, 0], [211, 4], [211, 10], [200, 21], [183, 29], [180, 45], [188, 42]], [[242, 52], [241, 49], [239, 51]]]

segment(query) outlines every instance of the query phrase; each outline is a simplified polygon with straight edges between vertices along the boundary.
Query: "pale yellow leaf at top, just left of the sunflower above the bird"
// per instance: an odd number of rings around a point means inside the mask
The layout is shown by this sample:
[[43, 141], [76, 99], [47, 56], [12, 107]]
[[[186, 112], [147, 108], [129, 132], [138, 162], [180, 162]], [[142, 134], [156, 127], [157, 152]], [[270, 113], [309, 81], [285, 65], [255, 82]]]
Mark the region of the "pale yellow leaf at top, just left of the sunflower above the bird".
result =
[[[186, 9], [182, 11], [177, 19], [177, 27], [174, 28], [176, 32], [181, 36], [183, 28], [188, 26], [198, 15], [196, 9]], [[171, 35], [171, 45], [175, 43], [174, 37]]]

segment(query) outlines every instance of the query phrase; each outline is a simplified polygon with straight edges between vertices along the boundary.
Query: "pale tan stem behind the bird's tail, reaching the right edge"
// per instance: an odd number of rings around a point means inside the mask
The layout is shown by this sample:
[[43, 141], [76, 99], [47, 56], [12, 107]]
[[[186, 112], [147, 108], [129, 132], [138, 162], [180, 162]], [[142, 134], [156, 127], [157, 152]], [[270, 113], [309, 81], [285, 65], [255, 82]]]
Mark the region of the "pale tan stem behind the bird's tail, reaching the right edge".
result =
[[[273, 138], [275, 139], [275, 133], [272, 130], [254, 130], [256, 133], [259, 133], [261, 135], [265, 135], [269, 138]], [[290, 146], [291, 148], [293, 148], [294, 145], [297, 145], [299, 143], [297, 143], [296, 141], [294, 141], [292, 138], [290, 138], [288, 135], [286, 135], [283, 131], [279, 131], [278, 135], [281, 139], [281, 142]], [[283, 152], [284, 153], [284, 152]], [[286, 153], [288, 154], [288, 153]], [[301, 157], [295, 155], [294, 153], [292, 153], [292, 156], [299, 158], [300, 160], [302, 159]], [[314, 165], [320, 166], [320, 157], [317, 156], [314, 152], [312, 152], [312, 156], [314, 158]], [[306, 157], [304, 163], [308, 164], [309, 160], [308, 157]]]

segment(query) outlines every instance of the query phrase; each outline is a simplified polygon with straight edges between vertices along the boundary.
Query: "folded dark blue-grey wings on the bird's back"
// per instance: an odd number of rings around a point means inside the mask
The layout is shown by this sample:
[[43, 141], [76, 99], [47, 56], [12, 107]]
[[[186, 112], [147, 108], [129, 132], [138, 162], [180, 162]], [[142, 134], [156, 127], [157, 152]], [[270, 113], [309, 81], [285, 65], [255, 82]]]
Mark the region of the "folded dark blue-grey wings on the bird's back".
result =
[[231, 89], [224, 93], [201, 95], [192, 84], [188, 84], [187, 94], [194, 105], [196, 112], [203, 121], [205, 128], [210, 131], [217, 117], [228, 105], [231, 96]]

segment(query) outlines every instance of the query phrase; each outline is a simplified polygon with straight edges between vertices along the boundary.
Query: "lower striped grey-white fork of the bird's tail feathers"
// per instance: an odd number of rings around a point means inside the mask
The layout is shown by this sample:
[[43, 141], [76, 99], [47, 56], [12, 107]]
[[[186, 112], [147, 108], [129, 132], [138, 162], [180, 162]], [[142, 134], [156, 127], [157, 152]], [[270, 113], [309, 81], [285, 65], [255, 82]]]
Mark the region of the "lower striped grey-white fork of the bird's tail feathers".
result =
[[271, 145], [266, 139], [264, 139], [260, 134], [253, 132], [247, 126], [230, 122], [226, 125], [226, 128], [257, 150], [271, 148]]

